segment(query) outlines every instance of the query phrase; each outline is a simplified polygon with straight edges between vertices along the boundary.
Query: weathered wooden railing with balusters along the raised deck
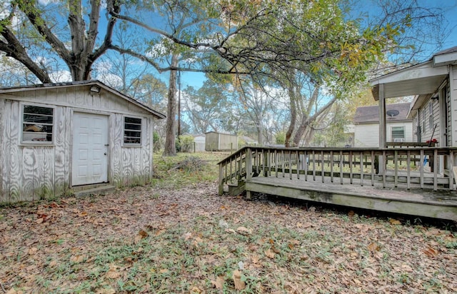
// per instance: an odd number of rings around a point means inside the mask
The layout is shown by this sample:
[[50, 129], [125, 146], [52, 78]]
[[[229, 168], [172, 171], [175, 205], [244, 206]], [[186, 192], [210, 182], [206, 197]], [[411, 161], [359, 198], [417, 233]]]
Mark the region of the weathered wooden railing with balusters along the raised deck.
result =
[[[271, 148], [246, 146], [219, 164], [224, 185], [253, 177], [281, 177], [383, 188], [455, 189], [452, 168], [457, 148]], [[456, 153], [457, 154], [457, 153]], [[444, 172], [440, 172], [440, 171]], [[449, 171], [450, 170], [450, 171]]]

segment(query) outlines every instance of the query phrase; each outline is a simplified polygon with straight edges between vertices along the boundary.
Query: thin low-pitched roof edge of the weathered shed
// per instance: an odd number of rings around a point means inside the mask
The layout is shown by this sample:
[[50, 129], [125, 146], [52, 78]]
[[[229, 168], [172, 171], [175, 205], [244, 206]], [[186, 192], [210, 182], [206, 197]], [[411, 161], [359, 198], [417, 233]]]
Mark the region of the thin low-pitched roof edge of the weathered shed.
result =
[[144, 105], [143, 103], [136, 101], [134, 98], [131, 98], [130, 96], [126, 96], [124, 93], [121, 93], [117, 91], [114, 88], [111, 88], [110, 86], [106, 86], [104, 83], [98, 80], [90, 80], [90, 81], [71, 81], [71, 82], [64, 82], [64, 83], [41, 83], [41, 84], [36, 84], [36, 85], [28, 85], [28, 86], [15, 86], [15, 87], [6, 87], [6, 88], [0, 88], [0, 93], [11, 93], [11, 92], [17, 92], [17, 91], [33, 91], [36, 90], [37, 88], [65, 88], [65, 87], [76, 87], [76, 86], [88, 86], [88, 85], [93, 85], [93, 86], [100, 86], [101, 88], [104, 88], [104, 90], [109, 91], [111, 93], [114, 93], [114, 95], [119, 96], [126, 101], [129, 101], [130, 103], [134, 103], [136, 106], [139, 106], [140, 108], [143, 108], [146, 111], [149, 111], [153, 116], [156, 116], [156, 118], [166, 118], [166, 116], [163, 113], [160, 113], [159, 111], [155, 111], [154, 109], [150, 108], [149, 106]]

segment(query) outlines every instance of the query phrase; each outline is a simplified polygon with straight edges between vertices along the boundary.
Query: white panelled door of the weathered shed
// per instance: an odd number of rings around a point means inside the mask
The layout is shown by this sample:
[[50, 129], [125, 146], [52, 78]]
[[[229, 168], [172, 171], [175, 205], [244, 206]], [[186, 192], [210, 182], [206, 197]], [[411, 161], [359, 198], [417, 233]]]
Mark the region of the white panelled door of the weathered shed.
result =
[[108, 181], [108, 116], [73, 113], [72, 186]]

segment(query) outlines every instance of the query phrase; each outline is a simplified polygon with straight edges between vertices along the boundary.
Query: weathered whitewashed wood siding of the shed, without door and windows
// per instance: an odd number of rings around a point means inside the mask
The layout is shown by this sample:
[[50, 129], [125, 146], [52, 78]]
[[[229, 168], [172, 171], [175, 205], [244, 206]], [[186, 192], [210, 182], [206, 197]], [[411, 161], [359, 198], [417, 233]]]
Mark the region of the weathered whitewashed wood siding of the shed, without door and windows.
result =
[[[150, 180], [153, 116], [109, 91], [91, 95], [89, 87], [0, 93], [0, 202], [60, 196], [71, 188], [74, 111], [109, 116], [109, 183], [121, 186]], [[54, 108], [53, 145], [21, 143], [23, 103]], [[141, 146], [123, 144], [126, 115], [142, 119]]]

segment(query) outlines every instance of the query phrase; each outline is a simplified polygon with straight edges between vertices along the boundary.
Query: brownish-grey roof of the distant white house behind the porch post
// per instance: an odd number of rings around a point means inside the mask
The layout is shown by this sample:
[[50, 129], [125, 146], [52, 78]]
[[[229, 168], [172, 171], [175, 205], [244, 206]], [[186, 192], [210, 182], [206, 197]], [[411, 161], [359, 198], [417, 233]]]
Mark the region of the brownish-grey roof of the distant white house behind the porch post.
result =
[[[397, 116], [388, 116], [387, 122], [391, 121], [411, 121], [408, 118], [408, 111], [411, 103], [393, 103], [386, 105], [386, 111], [396, 110], [398, 111]], [[379, 123], [379, 106], [361, 106], [356, 109], [353, 122], [358, 123]]]

